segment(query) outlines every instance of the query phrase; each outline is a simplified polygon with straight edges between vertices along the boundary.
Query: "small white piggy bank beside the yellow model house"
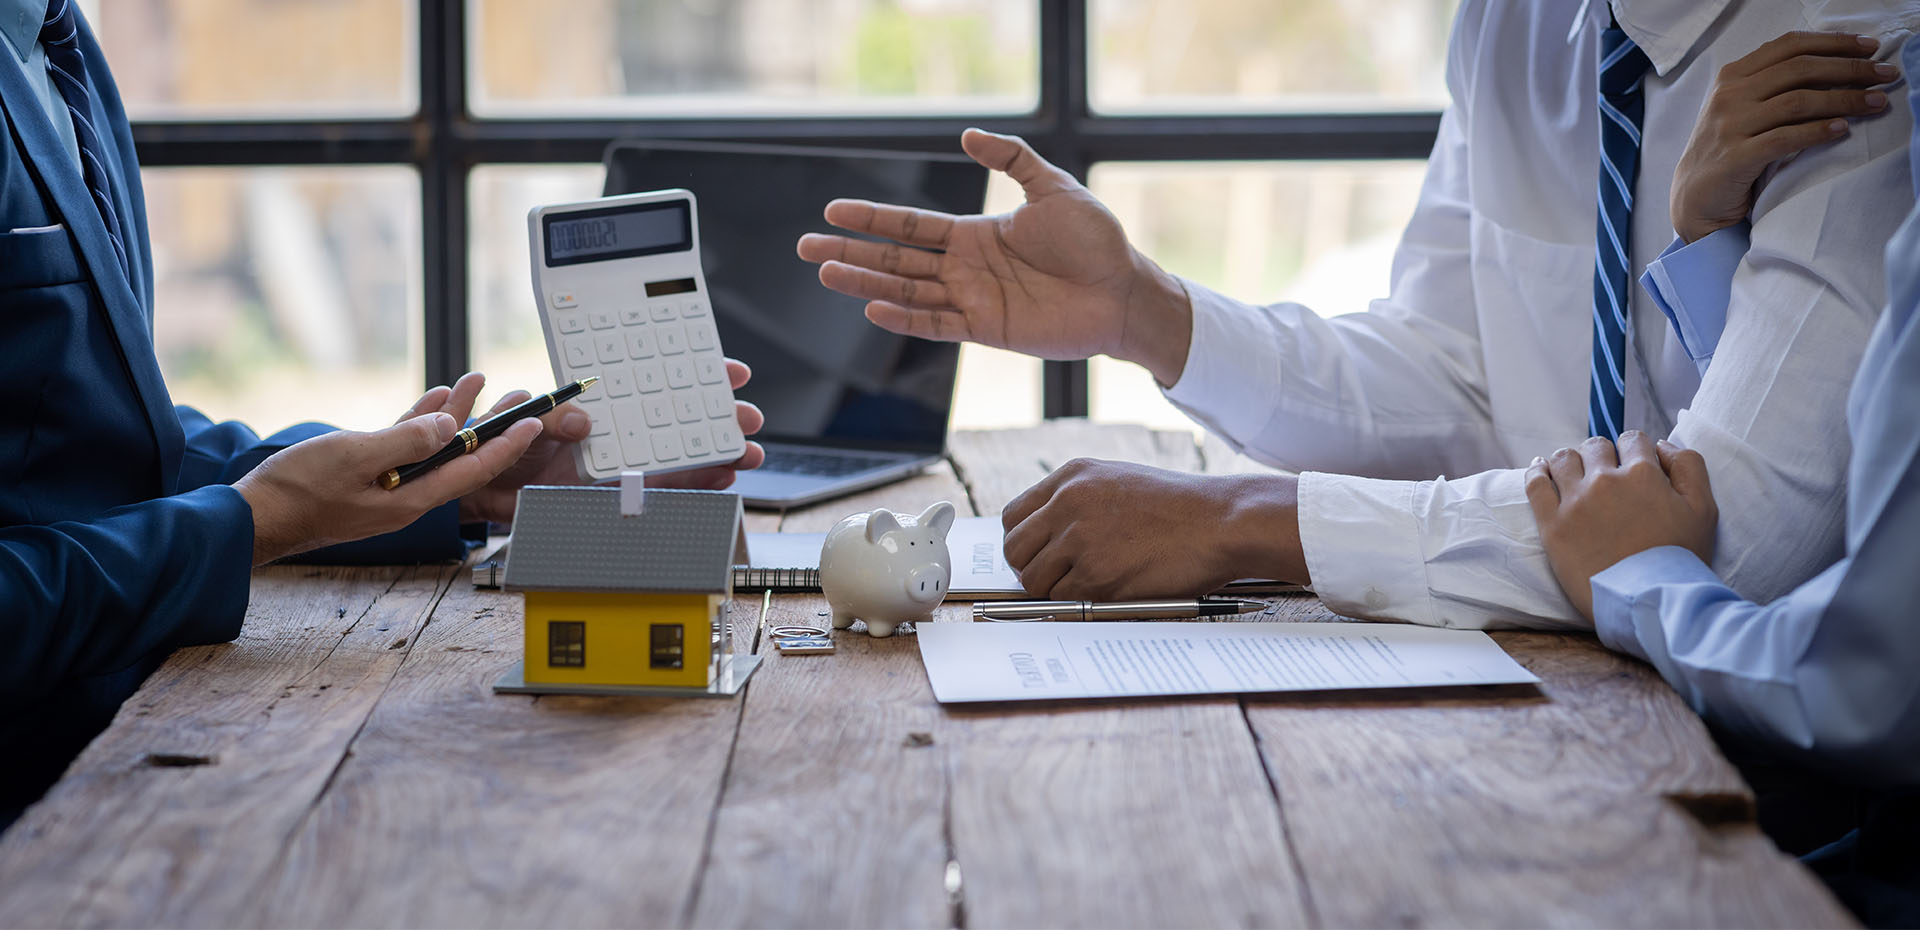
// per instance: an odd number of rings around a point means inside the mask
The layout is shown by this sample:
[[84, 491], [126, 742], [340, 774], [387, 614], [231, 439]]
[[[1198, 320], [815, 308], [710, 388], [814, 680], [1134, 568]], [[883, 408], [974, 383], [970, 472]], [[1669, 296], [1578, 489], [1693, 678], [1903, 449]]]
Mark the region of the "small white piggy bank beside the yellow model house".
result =
[[833, 607], [833, 628], [866, 621], [868, 636], [893, 636], [897, 624], [924, 621], [947, 596], [952, 557], [947, 530], [954, 505], [939, 502], [920, 517], [889, 509], [854, 513], [828, 530], [820, 550], [820, 592]]

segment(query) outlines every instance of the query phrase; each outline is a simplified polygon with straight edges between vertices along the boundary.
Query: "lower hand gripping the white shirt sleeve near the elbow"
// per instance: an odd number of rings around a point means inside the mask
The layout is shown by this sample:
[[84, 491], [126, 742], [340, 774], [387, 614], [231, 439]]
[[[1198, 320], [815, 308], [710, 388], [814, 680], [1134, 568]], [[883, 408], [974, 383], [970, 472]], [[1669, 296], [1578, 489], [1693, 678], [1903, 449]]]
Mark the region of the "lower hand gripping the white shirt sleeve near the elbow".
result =
[[1594, 619], [1594, 575], [1657, 546], [1713, 559], [1720, 517], [1707, 459], [1640, 430], [1559, 450], [1526, 469], [1526, 503], [1567, 600]]

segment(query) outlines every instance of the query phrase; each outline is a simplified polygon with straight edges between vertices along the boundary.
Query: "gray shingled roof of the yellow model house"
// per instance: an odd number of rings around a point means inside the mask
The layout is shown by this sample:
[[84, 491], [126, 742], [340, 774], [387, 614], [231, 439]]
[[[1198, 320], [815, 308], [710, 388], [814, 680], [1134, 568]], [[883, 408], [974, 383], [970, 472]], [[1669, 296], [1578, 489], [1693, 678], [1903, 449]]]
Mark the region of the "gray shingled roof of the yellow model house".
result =
[[507, 548], [507, 588], [726, 594], [739, 542], [739, 494], [649, 490], [639, 517], [620, 488], [522, 488]]

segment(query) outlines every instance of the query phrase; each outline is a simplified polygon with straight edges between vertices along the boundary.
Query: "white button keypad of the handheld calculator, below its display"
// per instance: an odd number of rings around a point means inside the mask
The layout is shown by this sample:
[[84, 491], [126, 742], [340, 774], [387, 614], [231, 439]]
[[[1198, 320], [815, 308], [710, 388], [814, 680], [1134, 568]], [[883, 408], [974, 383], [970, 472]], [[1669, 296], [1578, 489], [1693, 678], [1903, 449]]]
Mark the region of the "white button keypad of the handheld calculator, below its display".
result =
[[551, 294], [564, 380], [599, 375], [580, 396], [593, 419], [591, 477], [732, 461], [745, 448], [705, 296], [597, 300]]

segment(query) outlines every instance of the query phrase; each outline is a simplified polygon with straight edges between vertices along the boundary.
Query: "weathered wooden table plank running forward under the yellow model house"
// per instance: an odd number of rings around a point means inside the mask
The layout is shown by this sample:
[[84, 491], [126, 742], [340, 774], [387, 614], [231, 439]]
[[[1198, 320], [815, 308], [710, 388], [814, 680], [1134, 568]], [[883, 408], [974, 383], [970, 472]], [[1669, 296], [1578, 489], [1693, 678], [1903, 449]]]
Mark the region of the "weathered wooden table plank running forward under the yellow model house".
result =
[[520, 598], [455, 584], [261, 893], [205, 922], [676, 922], [739, 703], [493, 694], [518, 653]]

